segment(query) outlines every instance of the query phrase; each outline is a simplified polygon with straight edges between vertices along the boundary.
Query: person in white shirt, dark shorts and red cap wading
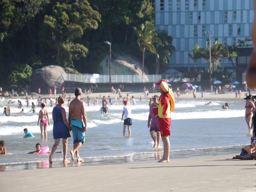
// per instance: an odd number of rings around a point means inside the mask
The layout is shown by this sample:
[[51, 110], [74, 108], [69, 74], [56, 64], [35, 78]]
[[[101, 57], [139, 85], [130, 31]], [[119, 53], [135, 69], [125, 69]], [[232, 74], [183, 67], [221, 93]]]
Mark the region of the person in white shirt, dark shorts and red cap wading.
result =
[[128, 104], [127, 100], [124, 100], [123, 104], [124, 104], [124, 108], [123, 108], [123, 113], [122, 113], [122, 118], [121, 118], [121, 121], [124, 118], [123, 135], [125, 136], [125, 130], [126, 130], [126, 126], [127, 126], [128, 127], [128, 134], [129, 134], [129, 137], [130, 137], [131, 136], [130, 126], [132, 125], [132, 118], [131, 118], [132, 109], [130, 108], [129, 105], [127, 105]]

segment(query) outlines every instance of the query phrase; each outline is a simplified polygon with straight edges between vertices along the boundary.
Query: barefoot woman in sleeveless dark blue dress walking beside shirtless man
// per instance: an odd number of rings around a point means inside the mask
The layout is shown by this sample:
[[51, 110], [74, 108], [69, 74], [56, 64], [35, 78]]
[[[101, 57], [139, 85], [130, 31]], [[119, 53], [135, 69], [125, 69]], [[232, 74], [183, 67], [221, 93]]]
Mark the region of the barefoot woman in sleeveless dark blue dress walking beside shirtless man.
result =
[[69, 162], [66, 159], [67, 151], [68, 151], [68, 137], [70, 137], [71, 126], [68, 124], [68, 120], [66, 119], [66, 111], [62, 107], [64, 104], [65, 98], [59, 96], [58, 104], [52, 110], [52, 119], [53, 119], [53, 138], [54, 145], [52, 146], [52, 153], [49, 157], [49, 162], [52, 163], [52, 157], [56, 149], [60, 144], [60, 138], [62, 138], [63, 144], [63, 162]]

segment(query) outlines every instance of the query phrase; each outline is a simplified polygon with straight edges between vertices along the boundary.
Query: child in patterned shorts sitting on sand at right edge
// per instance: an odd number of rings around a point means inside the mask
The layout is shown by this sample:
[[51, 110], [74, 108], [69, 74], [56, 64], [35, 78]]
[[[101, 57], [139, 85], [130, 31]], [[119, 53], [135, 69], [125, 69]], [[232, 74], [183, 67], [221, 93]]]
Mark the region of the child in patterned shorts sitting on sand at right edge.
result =
[[255, 136], [253, 135], [251, 137], [251, 144], [245, 146], [244, 148], [242, 148], [242, 151], [240, 153], [240, 155], [236, 155], [235, 157], [233, 157], [233, 159], [254, 159], [256, 158], [256, 153], [253, 151], [255, 151], [256, 149], [256, 139]]

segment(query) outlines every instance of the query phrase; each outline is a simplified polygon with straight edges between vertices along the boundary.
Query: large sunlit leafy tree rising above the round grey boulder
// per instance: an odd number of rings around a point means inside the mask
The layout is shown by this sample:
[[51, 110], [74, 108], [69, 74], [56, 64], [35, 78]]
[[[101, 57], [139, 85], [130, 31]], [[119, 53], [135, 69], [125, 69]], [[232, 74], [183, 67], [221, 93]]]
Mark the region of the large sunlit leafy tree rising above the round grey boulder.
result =
[[98, 28], [100, 14], [87, 0], [56, 1], [51, 8], [52, 12], [44, 16], [40, 42], [56, 51], [55, 61], [60, 66], [73, 66], [75, 59], [86, 57], [88, 52], [76, 41], [83, 36], [84, 30]]

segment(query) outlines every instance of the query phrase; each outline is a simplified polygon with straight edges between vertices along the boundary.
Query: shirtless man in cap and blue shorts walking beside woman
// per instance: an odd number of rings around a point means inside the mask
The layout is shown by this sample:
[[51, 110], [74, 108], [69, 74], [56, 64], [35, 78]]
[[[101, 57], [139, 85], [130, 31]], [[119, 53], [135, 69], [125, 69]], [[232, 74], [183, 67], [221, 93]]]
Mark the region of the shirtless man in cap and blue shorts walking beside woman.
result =
[[87, 116], [85, 112], [85, 104], [81, 100], [82, 89], [76, 88], [75, 96], [68, 108], [68, 124], [71, 125], [73, 133], [73, 150], [70, 151], [71, 159], [74, 161], [74, 154], [76, 154], [76, 161], [83, 161], [80, 158], [78, 150], [82, 147], [85, 141], [85, 132], [87, 131]]

